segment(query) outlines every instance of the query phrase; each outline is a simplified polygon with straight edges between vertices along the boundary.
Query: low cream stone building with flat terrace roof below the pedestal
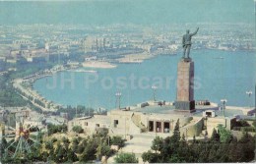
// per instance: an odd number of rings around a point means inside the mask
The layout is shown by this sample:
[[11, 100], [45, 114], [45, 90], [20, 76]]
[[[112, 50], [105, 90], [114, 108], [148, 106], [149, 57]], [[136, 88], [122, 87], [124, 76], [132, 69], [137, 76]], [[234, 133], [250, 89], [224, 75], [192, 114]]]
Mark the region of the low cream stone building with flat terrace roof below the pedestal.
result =
[[[203, 137], [203, 131], [212, 135], [213, 129], [223, 124], [230, 130], [232, 121], [236, 115], [243, 115], [240, 108], [226, 108], [220, 111], [217, 105], [196, 105], [193, 113], [175, 110], [168, 103], [149, 102], [148, 106], [131, 106], [123, 109], [113, 109], [107, 115], [95, 115], [94, 117], [76, 118], [69, 122], [69, 131], [76, 125], [81, 126], [87, 134], [96, 133], [96, 129], [108, 129], [109, 136], [130, 137], [141, 134], [151, 136], [171, 136], [175, 124], [179, 120], [181, 135], [186, 137]], [[211, 116], [207, 115], [211, 112]], [[223, 115], [224, 114], [224, 115]]]

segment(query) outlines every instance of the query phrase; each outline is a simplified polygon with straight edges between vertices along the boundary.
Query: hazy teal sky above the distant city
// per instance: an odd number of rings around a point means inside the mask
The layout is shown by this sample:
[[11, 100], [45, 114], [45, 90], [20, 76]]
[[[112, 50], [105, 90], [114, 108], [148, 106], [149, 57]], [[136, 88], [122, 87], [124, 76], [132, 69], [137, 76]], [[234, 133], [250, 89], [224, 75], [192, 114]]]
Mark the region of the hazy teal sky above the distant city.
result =
[[0, 2], [0, 25], [254, 23], [253, 0]]

